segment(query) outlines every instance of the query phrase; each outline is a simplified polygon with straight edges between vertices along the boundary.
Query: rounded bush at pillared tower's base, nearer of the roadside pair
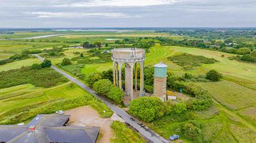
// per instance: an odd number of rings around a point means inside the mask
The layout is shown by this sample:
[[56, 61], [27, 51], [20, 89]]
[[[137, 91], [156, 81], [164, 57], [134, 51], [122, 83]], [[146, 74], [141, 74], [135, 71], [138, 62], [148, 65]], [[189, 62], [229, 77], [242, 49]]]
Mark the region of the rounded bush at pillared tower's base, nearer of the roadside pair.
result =
[[124, 93], [122, 89], [116, 86], [112, 86], [110, 91], [107, 93], [108, 97], [112, 100], [114, 100], [116, 103], [122, 103], [123, 102], [123, 96]]

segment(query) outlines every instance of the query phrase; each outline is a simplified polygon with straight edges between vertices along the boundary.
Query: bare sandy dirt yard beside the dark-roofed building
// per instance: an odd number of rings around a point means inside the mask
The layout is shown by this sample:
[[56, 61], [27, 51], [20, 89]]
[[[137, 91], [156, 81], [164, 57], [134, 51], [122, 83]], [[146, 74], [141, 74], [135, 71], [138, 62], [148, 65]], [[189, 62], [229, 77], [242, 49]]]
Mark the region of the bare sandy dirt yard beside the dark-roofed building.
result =
[[100, 139], [97, 143], [108, 143], [113, 133], [111, 131], [112, 118], [102, 118], [92, 107], [84, 106], [65, 111], [70, 116], [70, 126], [99, 126]]

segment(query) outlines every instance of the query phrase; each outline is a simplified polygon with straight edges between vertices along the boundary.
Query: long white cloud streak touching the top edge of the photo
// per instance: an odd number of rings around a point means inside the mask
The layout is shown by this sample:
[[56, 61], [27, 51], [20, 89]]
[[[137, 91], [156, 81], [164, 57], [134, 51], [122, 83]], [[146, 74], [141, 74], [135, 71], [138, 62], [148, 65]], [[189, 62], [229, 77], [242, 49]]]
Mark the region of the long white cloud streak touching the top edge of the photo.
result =
[[175, 3], [177, 0], [93, 0], [87, 2], [60, 4], [54, 6], [88, 7], [88, 6], [155, 6]]

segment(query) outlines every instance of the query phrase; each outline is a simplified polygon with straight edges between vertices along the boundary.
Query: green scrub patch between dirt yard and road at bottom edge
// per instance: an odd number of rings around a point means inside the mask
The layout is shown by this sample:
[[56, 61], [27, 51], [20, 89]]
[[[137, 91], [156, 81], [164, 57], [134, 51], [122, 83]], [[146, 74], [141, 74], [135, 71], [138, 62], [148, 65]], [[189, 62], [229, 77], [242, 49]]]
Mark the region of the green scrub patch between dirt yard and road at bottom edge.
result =
[[113, 121], [111, 128], [114, 132], [115, 137], [111, 138], [110, 142], [112, 143], [131, 143], [131, 142], [146, 142], [143, 137], [138, 133], [133, 132], [128, 128], [124, 123], [120, 121]]

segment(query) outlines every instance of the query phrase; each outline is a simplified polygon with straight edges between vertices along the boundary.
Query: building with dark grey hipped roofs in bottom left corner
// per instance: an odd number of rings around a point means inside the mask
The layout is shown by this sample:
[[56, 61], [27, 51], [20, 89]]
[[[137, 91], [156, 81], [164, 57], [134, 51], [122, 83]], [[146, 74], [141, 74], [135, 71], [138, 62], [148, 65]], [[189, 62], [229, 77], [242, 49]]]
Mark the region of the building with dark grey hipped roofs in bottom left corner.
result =
[[70, 115], [39, 114], [24, 126], [0, 125], [0, 142], [96, 142], [99, 127], [65, 126], [69, 117]]

